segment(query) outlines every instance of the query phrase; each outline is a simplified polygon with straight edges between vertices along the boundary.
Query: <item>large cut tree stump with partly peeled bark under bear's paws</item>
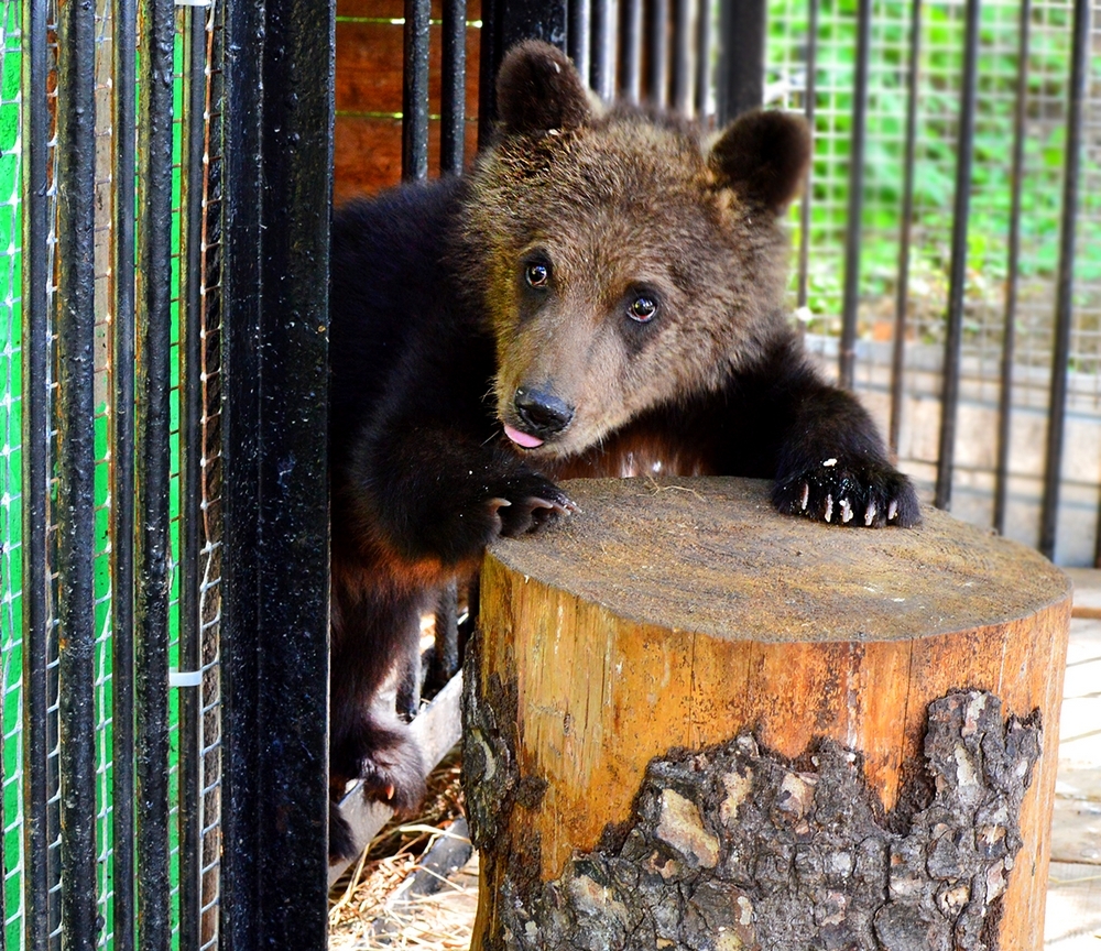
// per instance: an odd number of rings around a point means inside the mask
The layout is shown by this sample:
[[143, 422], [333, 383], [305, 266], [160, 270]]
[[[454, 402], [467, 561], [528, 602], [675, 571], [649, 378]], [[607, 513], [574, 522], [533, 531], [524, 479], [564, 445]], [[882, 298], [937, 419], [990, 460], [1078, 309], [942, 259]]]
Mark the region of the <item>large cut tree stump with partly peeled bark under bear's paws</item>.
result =
[[1036, 949], [1070, 583], [927, 510], [582, 480], [481, 576], [473, 948]]

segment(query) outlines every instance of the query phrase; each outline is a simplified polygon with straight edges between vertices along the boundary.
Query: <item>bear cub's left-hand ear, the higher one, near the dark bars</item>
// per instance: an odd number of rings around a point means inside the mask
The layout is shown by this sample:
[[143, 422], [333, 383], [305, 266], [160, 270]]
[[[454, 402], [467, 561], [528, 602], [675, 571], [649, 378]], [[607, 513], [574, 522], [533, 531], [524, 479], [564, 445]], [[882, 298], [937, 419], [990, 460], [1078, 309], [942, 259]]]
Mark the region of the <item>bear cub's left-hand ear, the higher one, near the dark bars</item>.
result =
[[577, 129], [589, 118], [589, 97], [565, 53], [527, 40], [501, 63], [497, 108], [508, 134]]

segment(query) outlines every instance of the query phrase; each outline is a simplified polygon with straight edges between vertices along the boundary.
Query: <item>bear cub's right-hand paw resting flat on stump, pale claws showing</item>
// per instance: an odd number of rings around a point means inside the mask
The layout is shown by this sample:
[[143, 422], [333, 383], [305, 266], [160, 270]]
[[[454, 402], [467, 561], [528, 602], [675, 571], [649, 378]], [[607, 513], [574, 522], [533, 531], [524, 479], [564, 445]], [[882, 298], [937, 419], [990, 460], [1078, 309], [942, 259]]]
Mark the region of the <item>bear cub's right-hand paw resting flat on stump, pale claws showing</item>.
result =
[[922, 521], [909, 479], [886, 463], [844, 463], [824, 459], [794, 476], [777, 479], [773, 504], [789, 515], [880, 528], [909, 528]]

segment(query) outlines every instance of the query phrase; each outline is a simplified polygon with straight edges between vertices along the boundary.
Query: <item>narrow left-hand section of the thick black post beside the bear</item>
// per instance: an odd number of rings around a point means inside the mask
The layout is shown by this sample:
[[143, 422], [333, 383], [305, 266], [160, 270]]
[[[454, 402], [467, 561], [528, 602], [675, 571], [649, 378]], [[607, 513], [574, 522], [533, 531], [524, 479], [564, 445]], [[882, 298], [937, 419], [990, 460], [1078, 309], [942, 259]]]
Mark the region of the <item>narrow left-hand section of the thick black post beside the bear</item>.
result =
[[[263, 139], [262, 2], [226, 8], [225, 230], [222, 314], [222, 951], [259, 949], [260, 910], [257, 761], [260, 627], [260, 311]], [[259, 37], [259, 40], [258, 40]], [[316, 67], [312, 70], [317, 75]], [[282, 227], [282, 226], [281, 226]]]

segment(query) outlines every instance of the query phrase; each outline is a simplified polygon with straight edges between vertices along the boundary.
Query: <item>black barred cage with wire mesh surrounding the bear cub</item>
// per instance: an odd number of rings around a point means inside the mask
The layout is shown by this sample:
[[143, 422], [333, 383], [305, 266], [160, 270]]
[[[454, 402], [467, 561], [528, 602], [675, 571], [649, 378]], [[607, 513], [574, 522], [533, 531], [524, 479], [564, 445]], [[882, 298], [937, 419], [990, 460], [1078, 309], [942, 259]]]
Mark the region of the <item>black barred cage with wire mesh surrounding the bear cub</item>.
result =
[[[327, 222], [504, 50], [816, 130], [792, 307], [929, 500], [1097, 557], [1089, 0], [8, 0], [2, 949], [325, 943]], [[476, 131], [477, 130], [477, 131]]]

